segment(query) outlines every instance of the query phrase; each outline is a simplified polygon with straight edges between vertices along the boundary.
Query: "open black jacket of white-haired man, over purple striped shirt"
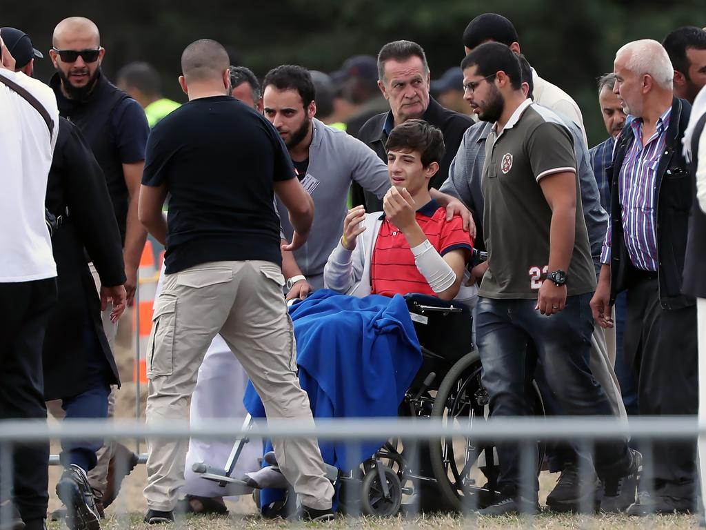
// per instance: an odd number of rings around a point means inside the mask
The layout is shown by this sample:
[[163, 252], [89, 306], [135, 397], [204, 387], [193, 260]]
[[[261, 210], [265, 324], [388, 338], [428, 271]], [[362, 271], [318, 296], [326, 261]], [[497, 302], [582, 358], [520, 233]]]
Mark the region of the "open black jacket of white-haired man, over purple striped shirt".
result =
[[[674, 98], [671, 104], [669, 129], [666, 131], [664, 153], [659, 158], [654, 182], [657, 231], [657, 260], [659, 274], [659, 302], [667, 310], [693, 305], [694, 300], [681, 293], [689, 211], [694, 200], [693, 175], [682, 154], [681, 139], [689, 122], [691, 106], [685, 100]], [[635, 135], [630, 127], [623, 129], [618, 139], [613, 165], [607, 175], [611, 183], [611, 304], [616, 295], [630, 287], [635, 267], [628, 257], [621, 219], [620, 169]]]

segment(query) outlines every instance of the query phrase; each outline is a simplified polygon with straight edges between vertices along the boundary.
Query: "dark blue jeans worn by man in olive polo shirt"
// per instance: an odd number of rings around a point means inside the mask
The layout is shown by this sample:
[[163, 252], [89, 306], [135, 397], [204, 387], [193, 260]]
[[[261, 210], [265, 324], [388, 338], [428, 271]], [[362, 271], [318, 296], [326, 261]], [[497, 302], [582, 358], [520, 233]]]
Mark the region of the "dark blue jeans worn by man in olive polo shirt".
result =
[[[476, 339], [491, 416], [532, 414], [527, 377], [534, 371], [534, 361], [527, 359], [530, 341], [536, 347], [549, 389], [563, 411], [576, 416], [611, 416], [606, 394], [588, 367], [594, 325], [591, 296], [571, 296], [562, 312], [549, 317], [534, 309], [537, 300], [479, 298]], [[537, 461], [537, 447], [532, 447]], [[594, 447], [599, 476], [617, 478], [628, 473], [631, 457], [625, 440], [597, 442]], [[520, 493], [520, 444], [501, 443], [497, 448], [498, 488], [503, 495], [515, 497]], [[537, 491], [537, 477], [533, 480]]]

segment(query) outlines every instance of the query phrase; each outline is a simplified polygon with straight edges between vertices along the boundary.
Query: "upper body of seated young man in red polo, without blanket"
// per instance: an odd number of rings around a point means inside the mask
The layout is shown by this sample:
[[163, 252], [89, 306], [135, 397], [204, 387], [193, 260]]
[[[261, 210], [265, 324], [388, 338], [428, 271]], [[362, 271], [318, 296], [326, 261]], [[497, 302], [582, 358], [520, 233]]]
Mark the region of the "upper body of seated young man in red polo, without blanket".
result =
[[441, 131], [412, 119], [390, 132], [386, 144], [392, 187], [383, 213], [352, 208], [324, 268], [324, 285], [357, 297], [407, 293], [452, 300], [472, 252], [469, 233], [429, 194], [429, 179], [444, 153]]

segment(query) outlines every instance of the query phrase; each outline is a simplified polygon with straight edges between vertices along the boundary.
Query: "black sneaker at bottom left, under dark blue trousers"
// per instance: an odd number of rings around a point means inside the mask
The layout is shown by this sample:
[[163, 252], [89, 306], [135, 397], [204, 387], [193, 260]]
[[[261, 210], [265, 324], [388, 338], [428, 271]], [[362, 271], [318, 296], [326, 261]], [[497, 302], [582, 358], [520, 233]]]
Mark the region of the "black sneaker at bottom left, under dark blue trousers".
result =
[[66, 526], [71, 530], [100, 530], [100, 516], [95, 506], [88, 476], [71, 464], [56, 484], [56, 495], [66, 505]]

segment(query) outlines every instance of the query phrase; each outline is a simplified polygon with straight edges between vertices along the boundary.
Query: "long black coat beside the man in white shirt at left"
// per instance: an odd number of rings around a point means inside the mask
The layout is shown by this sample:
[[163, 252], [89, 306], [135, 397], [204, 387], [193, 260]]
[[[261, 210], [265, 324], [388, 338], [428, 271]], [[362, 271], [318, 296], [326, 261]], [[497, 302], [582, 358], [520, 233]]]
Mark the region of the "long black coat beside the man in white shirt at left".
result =
[[58, 126], [45, 201], [49, 211], [63, 219], [52, 236], [59, 299], [44, 336], [47, 400], [76, 396], [95, 381], [86, 366], [89, 348], [96, 347], [95, 340], [89, 341], [87, 337], [88, 322], [112, 372], [107, 382], [119, 384], [84, 247], [92, 257], [102, 285], [125, 283], [120, 232], [100, 166], [77, 126], [64, 118], [59, 119]]

